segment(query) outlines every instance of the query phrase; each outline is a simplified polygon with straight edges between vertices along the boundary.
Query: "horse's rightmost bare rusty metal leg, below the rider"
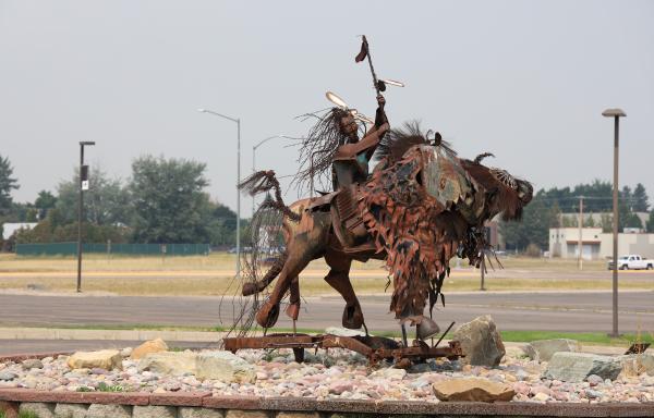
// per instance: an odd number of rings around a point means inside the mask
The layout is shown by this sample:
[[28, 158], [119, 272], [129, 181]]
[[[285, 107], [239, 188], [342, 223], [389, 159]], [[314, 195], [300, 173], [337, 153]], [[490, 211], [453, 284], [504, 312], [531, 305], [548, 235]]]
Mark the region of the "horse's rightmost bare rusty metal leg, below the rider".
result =
[[325, 254], [325, 261], [331, 268], [325, 276], [325, 281], [346, 299], [342, 318], [343, 327], [353, 330], [359, 330], [362, 325], [365, 327], [361, 305], [350, 282], [349, 274], [352, 259], [329, 250]]

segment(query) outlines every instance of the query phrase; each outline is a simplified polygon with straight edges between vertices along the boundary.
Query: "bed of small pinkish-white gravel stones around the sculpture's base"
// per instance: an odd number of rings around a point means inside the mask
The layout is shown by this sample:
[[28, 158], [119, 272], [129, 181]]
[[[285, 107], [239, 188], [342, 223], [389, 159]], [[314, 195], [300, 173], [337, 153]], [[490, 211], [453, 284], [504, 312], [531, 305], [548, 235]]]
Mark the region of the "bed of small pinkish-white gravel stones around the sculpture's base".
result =
[[[125, 353], [129, 353], [126, 349]], [[344, 349], [306, 353], [305, 362], [293, 360], [290, 349], [241, 351], [238, 355], [256, 368], [255, 383], [201, 381], [193, 374], [171, 377], [138, 372], [138, 360], [124, 358], [123, 370], [77, 369], [65, 356], [24, 362], [0, 362], [0, 388], [43, 391], [196, 392], [214, 395], [306, 396], [318, 399], [385, 399], [439, 402], [432, 384], [451, 378], [483, 377], [513, 386], [519, 402], [654, 402], [654, 377], [618, 377], [615, 381], [591, 376], [582, 383], [541, 377], [546, 364], [506, 356], [497, 368], [462, 366], [459, 361], [431, 360], [410, 370], [389, 364], [375, 368], [365, 357]]]

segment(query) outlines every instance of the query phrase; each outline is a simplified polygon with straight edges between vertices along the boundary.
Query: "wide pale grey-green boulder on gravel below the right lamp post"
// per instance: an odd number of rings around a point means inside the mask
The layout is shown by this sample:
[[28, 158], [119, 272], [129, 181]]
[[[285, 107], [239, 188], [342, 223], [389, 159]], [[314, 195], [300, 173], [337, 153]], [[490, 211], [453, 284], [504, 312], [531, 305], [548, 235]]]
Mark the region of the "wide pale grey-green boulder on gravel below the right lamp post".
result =
[[614, 357], [588, 353], [555, 353], [543, 373], [546, 379], [583, 382], [589, 376], [615, 380], [621, 364]]

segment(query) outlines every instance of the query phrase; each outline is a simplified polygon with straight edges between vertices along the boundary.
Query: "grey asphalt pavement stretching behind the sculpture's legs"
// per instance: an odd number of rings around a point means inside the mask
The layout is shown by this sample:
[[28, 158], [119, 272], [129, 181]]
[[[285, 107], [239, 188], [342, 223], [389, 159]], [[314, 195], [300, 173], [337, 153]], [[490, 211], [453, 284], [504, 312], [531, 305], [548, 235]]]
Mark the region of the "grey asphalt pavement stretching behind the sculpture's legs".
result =
[[[389, 295], [361, 297], [371, 332], [396, 331], [398, 325], [388, 312]], [[39, 293], [0, 294], [0, 353], [58, 351], [71, 346], [70, 341], [87, 341], [98, 345], [143, 341], [147, 331], [124, 334], [114, 330], [71, 330], [71, 328], [132, 327], [216, 327], [230, 325], [239, 311], [239, 299], [220, 297], [147, 297], [71, 295]], [[340, 325], [343, 302], [337, 296], [304, 300], [298, 327], [325, 329]], [[491, 315], [498, 329], [566, 332], [607, 332], [611, 328], [610, 292], [467, 292], [446, 293], [446, 307], [438, 307], [434, 318], [445, 329], [451, 321], [468, 322]], [[31, 330], [21, 330], [24, 327]], [[280, 315], [278, 327], [290, 328]], [[34, 328], [40, 328], [41, 331]], [[69, 329], [59, 330], [56, 329]], [[13, 330], [13, 331], [12, 331]], [[625, 291], [619, 298], [621, 332], [654, 332], [654, 292]], [[31, 331], [29, 333], [26, 331]], [[93, 334], [93, 332], [99, 334]], [[59, 332], [59, 334], [57, 334]], [[62, 334], [68, 332], [68, 334]], [[123, 334], [121, 334], [123, 332]], [[161, 334], [165, 331], [149, 331]], [[171, 331], [170, 341], [204, 341], [215, 336], [194, 335], [193, 331]], [[215, 333], [207, 333], [215, 335]], [[76, 335], [76, 336], [75, 336]], [[209, 340], [207, 340], [209, 339]], [[61, 341], [53, 343], [52, 341]], [[126, 344], [126, 343], [125, 343]], [[78, 346], [77, 343], [73, 344]], [[121, 345], [124, 345], [121, 343]], [[106, 346], [106, 345], [102, 345]], [[43, 348], [43, 349], [41, 349]]]

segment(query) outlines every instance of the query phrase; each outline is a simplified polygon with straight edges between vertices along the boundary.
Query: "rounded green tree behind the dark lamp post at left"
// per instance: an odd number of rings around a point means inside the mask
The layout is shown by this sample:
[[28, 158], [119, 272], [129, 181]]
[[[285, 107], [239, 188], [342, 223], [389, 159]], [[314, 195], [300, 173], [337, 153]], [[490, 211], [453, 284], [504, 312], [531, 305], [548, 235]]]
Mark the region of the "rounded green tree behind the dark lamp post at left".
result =
[[[73, 179], [59, 184], [56, 208], [58, 224], [65, 225], [77, 221], [77, 200], [80, 197], [78, 170]], [[101, 169], [93, 170], [88, 175], [88, 190], [84, 192], [84, 219], [98, 225], [129, 224], [132, 218], [132, 205], [126, 187], [119, 179], [110, 179]], [[40, 195], [39, 195], [40, 196]]]

